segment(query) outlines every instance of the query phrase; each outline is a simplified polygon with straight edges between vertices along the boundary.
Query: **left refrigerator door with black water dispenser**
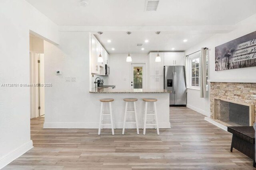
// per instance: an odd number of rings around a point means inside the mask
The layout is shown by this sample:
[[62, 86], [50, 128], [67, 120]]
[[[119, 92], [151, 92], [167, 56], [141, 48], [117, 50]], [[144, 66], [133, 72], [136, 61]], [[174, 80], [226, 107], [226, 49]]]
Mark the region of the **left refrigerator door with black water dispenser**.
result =
[[170, 105], [174, 105], [174, 66], [164, 66], [164, 89], [170, 90]]

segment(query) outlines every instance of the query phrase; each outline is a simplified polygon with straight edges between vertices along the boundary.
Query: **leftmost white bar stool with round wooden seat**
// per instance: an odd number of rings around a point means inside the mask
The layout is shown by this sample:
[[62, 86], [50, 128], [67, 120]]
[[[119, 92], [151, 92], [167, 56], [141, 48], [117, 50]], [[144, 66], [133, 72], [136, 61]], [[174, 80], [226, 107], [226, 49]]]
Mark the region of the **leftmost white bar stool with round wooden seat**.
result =
[[[111, 129], [112, 129], [112, 135], [114, 135], [114, 123], [113, 123], [113, 116], [112, 116], [112, 106], [111, 106], [111, 102], [113, 102], [114, 99], [100, 99], [101, 102], [101, 106], [100, 106], [100, 123], [99, 123], [99, 130], [98, 130], [98, 135], [100, 135], [100, 129], [101, 126], [103, 127], [104, 125], [111, 125]], [[103, 111], [103, 102], [108, 102], [109, 103], [109, 111]], [[109, 113], [109, 114], [103, 114], [103, 113]], [[102, 116], [108, 115], [110, 116], [110, 123], [111, 124], [103, 124], [102, 121]]]

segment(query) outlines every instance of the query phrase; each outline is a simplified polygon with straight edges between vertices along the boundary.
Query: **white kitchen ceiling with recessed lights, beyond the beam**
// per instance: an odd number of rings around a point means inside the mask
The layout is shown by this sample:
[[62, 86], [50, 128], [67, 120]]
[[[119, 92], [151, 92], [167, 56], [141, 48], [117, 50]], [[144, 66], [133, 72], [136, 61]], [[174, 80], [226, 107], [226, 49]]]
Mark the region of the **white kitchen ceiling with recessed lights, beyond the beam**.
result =
[[[99, 35], [95, 33], [99, 40]], [[159, 51], [184, 51], [200, 41], [212, 36], [213, 34], [191, 34], [191, 33], [172, 33], [163, 31], [157, 35], [154, 31], [135, 31], [127, 35], [125, 31], [107, 31], [101, 35], [102, 45], [108, 53], [128, 53], [128, 43], [130, 40], [130, 53], [148, 53], [157, 51], [157, 43], [159, 41]], [[145, 40], [148, 43], [145, 43]], [[187, 42], [183, 42], [187, 39]], [[107, 40], [111, 40], [108, 43]], [[142, 47], [137, 47], [137, 44], [142, 43]], [[115, 50], [113, 51], [112, 48]], [[144, 51], [141, 49], [144, 48]]]

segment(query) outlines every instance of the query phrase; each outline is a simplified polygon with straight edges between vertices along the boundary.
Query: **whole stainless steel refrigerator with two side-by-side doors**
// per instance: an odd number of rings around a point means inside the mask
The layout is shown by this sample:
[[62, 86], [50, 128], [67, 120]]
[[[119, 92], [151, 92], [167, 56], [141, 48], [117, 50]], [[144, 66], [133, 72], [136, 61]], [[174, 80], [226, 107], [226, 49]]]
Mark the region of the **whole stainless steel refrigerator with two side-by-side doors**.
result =
[[164, 89], [170, 93], [170, 105], [186, 105], [185, 66], [164, 66]]

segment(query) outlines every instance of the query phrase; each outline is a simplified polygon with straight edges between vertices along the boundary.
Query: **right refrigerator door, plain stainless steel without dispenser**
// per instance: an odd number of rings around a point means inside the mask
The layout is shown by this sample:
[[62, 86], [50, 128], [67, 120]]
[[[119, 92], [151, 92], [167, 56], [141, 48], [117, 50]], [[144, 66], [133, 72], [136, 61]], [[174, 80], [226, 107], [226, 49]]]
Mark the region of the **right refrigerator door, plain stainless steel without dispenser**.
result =
[[185, 67], [175, 66], [175, 72], [176, 72], [175, 104], [186, 105]]

